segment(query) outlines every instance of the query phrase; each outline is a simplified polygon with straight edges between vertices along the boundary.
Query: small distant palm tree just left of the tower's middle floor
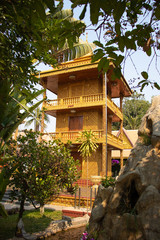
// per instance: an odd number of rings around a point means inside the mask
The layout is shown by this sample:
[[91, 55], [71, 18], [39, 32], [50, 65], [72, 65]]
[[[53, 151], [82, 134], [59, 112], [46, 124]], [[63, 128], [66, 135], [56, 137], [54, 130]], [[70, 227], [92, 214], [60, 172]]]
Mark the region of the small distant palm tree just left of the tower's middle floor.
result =
[[[30, 126], [32, 123], [34, 123], [34, 131], [38, 132], [40, 129], [41, 119], [42, 119], [42, 110], [40, 108], [36, 108], [32, 114], [32, 116], [28, 117], [28, 121], [26, 121], [25, 126]], [[45, 113], [44, 114], [44, 121], [49, 123], [49, 117]], [[45, 124], [44, 127], [46, 128], [47, 125]]]

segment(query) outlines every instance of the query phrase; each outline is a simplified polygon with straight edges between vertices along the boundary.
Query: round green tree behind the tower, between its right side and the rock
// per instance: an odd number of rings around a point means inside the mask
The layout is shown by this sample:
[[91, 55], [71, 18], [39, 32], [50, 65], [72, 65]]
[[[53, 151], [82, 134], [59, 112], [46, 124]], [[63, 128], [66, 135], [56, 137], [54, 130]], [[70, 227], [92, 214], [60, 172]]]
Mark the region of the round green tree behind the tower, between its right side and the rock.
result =
[[131, 98], [125, 99], [123, 103], [123, 116], [125, 129], [138, 129], [142, 117], [150, 107], [142, 94], [134, 93]]

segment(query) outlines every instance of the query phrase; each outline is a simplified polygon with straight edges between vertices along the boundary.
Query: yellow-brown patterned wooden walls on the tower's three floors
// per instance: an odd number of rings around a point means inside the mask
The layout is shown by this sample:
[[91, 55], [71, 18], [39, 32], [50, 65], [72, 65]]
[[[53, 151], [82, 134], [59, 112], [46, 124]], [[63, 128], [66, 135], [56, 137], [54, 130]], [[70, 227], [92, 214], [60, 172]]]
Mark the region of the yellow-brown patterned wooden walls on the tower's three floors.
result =
[[[76, 97], [82, 95], [92, 95], [103, 93], [102, 79], [98, 76], [79, 76], [75, 81], [59, 82], [58, 83], [58, 98]], [[76, 109], [75, 109], [76, 110]], [[75, 113], [64, 112], [57, 113], [56, 118], [56, 132], [69, 131], [69, 117], [70, 116], [83, 116], [83, 130], [101, 130], [102, 124], [102, 109], [89, 108], [76, 110]], [[95, 153], [89, 158], [89, 178], [90, 176], [101, 175], [102, 172], [102, 144]], [[87, 161], [82, 159], [82, 179], [87, 178]]]

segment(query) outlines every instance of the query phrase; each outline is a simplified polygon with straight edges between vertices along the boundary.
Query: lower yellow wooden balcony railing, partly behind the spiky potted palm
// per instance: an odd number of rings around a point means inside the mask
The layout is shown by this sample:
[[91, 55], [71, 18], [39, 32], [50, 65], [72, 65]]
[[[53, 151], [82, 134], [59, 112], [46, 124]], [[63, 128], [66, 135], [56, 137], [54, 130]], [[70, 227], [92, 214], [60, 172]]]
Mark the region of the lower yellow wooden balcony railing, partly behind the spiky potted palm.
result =
[[[70, 140], [73, 144], [78, 144], [77, 138], [81, 136], [81, 133], [81, 131], [43, 133], [43, 139], [47, 141], [51, 139], [60, 139], [63, 143], [67, 143], [67, 141]], [[105, 143], [106, 135], [103, 133], [103, 130], [93, 130], [93, 133], [97, 138], [97, 143]], [[107, 144], [116, 149], [123, 149], [123, 141], [111, 133], [107, 133]]]

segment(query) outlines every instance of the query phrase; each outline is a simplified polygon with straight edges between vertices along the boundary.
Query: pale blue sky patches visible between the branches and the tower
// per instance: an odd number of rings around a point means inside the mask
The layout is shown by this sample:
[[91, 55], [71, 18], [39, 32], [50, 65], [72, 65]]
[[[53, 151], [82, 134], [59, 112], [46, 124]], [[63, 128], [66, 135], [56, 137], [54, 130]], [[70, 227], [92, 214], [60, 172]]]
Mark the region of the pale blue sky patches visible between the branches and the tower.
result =
[[[69, 0], [64, 0], [64, 9], [69, 9], [71, 6], [71, 3]], [[75, 18], [79, 18], [79, 15], [81, 13], [81, 9], [80, 8], [76, 8], [74, 10], [74, 17]], [[89, 20], [89, 9], [87, 9], [87, 14], [84, 18], [84, 22], [86, 24], [86, 26], [90, 25], [90, 20]], [[89, 27], [91, 28], [91, 27]], [[93, 30], [86, 30], [86, 32], [81, 35], [81, 39], [82, 40], [86, 40], [86, 33], [88, 35], [88, 41], [89, 42], [93, 42], [94, 40], [97, 40], [97, 35], [95, 33], [95, 31]], [[101, 38], [101, 41], [104, 43], [103, 40], [103, 36]], [[142, 71], [147, 71], [148, 72], [148, 66], [150, 65], [150, 69], [149, 69], [149, 73], [150, 76], [152, 76], [152, 80], [160, 82], [160, 75], [158, 73], [158, 71], [156, 70], [155, 64], [156, 62], [153, 61], [152, 64], [150, 64], [151, 58], [149, 58], [144, 52], [142, 51], [138, 51], [136, 53], [134, 53], [132, 55], [132, 59], [128, 58], [125, 62], [124, 68], [122, 69], [122, 73], [126, 79], [126, 81], [130, 84], [130, 79], [133, 78], [137, 78], [137, 77], [141, 77], [141, 72]], [[134, 63], [134, 64], [133, 64]], [[157, 68], [160, 71], [160, 60], [157, 63]], [[44, 70], [48, 70], [51, 69], [51, 67], [49, 66], [45, 66], [44, 64], [40, 64], [38, 66], [38, 70], [40, 71], [44, 71]], [[142, 80], [142, 79], [141, 79]], [[134, 86], [137, 85], [137, 82], [134, 83]], [[130, 85], [130, 87], [132, 88], [133, 85]], [[133, 90], [136, 90], [137, 92], [140, 92], [140, 89], [138, 88], [133, 88]], [[160, 94], [160, 91], [157, 90], [156, 88], [151, 88], [151, 86], [145, 87], [143, 89], [142, 94], [144, 94], [144, 98], [151, 102], [151, 98], [153, 96], [157, 96]], [[49, 92], [47, 92], [47, 96], [49, 99], [53, 100], [56, 98], [55, 95], [50, 94]], [[48, 124], [48, 127], [46, 129], [47, 132], [53, 132], [55, 131], [55, 124], [56, 124], [56, 120], [53, 117], [50, 117], [50, 123]]]

